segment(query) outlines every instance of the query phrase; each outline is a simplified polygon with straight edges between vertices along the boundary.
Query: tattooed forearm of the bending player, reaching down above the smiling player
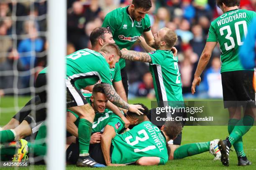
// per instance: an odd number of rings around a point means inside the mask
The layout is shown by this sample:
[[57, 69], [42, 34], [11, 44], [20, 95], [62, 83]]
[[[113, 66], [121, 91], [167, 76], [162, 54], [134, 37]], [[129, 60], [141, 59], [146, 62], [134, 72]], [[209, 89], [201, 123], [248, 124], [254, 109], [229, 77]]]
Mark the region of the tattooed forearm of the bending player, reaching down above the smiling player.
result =
[[125, 102], [116, 92], [112, 85], [108, 83], [102, 83], [105, 95], [108, 97], [110, 102], [113, 102], [118, 107], [129, 110], [130, 106]]

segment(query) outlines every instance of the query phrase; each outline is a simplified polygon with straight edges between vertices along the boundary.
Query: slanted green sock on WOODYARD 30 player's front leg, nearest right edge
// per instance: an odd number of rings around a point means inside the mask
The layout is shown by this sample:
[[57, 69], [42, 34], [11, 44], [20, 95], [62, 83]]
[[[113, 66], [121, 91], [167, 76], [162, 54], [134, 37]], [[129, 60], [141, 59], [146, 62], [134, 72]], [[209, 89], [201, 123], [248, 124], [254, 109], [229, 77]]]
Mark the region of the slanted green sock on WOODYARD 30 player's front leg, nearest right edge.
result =
[[239, 120], [230, 133], [228, 140], [231, 145], [233, 145], [239, 138], [248, 132], [248, 130], [253, 126], [254, 119], [249, 115], [245, 115], [241, 120]]

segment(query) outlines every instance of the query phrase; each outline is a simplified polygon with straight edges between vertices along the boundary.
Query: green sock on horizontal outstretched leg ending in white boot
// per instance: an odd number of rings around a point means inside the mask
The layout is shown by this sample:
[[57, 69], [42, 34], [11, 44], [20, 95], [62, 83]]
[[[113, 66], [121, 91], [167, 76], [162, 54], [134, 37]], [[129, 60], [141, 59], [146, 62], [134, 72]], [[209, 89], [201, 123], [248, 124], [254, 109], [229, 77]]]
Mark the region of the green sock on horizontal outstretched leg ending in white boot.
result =
[[174, 151], [174, 160], [197, 155], [210, 150], [210, 142], [189, 143], [182, 145]]

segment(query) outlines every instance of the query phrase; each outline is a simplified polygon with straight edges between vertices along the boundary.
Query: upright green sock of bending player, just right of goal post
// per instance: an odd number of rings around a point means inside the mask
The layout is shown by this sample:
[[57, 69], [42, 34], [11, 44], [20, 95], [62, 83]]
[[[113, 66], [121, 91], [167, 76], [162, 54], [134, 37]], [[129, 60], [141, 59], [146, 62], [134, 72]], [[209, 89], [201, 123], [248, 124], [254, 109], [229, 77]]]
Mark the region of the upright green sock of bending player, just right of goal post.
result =
[[78, 138], [80, 154], [89, 153], [92, 123], [86, 119], [80, 119], [78, 125]]

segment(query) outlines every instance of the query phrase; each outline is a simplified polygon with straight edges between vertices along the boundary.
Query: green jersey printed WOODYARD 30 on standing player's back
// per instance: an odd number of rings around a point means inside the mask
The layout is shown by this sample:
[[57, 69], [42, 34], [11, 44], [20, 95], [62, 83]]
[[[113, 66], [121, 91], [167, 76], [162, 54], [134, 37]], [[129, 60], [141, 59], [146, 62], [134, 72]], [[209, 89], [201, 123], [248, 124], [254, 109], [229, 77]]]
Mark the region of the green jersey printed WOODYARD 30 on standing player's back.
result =
[[207, 42], [220, 43], [221, 72], [245, 70], [238, 51], [239, 46], [243, 45], [248, 25], [255, 16], [254, 11], [230, 10], [212, 21]]

